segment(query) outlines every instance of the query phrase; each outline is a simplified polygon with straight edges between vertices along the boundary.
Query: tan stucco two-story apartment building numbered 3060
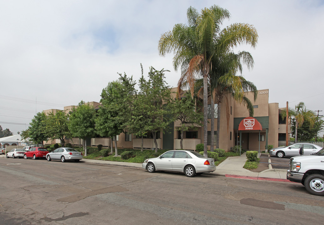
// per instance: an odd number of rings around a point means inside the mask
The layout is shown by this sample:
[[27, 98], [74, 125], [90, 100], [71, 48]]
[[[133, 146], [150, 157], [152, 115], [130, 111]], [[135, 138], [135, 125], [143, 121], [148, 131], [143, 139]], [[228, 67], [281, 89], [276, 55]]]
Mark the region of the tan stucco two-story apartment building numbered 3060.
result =
[[[173, 88], [171, 91], [176, 91]], [[253, 117], [260, 122], [262, 125], [262, 130], [260, 131], [260, 150], [266, 149], [267, 145], [273, 145], [273, 147], [278, 147], [280, 145], [285, 145], [286, 137], [286, 120], [282, 120], [279, 108], [279, 103], [269, 103], [269, 89], [258, 90], [257, 100], [253, 101], [253, 94], [251, 92], [246, 92], [246, 96], [253, 103], [254, 115]], [[173, 96], [175, 97], [175, 96]], [[220, 130], [217, 131], [217, 118], [214, 118], [214, 133], [219, 136], [219, 147], [230, 151], [235, 145], [241, 145], [245, 150], [258, 150], [259, 149], [259, 131], [242, 131], [241, 140], [240, 132], [238, 131], [239, 123], [249, 116], [249, 112], [245, 105], [238, 104], [230, 94], [226, 94], [223, 98], [221, 107], [221, 124]], [[210, 104], [210, 98], [208, 99], [208, 104]], [[99, 102], [90, 102], [95, 109], [100, 106]], [[203, 110], [203, 107], [197, 103], [198, 107]], [[217, 105], [215, 105], [215, 108]], [[73, 106], [64, 107], [64, 111], [68, 113]], [[227, 109], [226, 109], [227, 108]], [[45, 110], [45, 113], [56, 112], [56, 110]], [[217, 111], [215, 111], [215, 117], [217, 117]], [[227, 123], [227, 117], [228, 123]], [[210, 130], [211, 130], [211, 119], [208, 119], [208, 144], [210, 144]], [[175, 127], [179, 126], [178, 121], [174, 121], [169, 125], [169, 132], [162, 132], [157, 136], [158, 148], [160, 149], [179, 149], [180, 148], [180, 133], [175, 131]], [[290, 123], [288, 120], [288, 136], [290, 136]], [[214, 135], [214, 147], [216, 146], [216, 135]], [[280, 143], [282, 141], [282, 143]], [[58, 141], [48, 142], [47, 144], [59, 143]], [[73, 138], [72, 141], [66, 140], [66, 143], [71, 143], [73, 145], [79, 145], [82, 143], [78, 138]], [[89, 138], [87, 143], [92, 146], [103, 145], [105, 147], [110, 147], [110, 138]], [[185, 132], [183, 139], [183, 148], [187, 150], [194, 150], [197, 144], [203, 143], [203, 127], [197, 126], [195, 130], [190, 130]], [[279, 144], [280, 143], [280, 144]], [[114, 145], [114, 143], [113, 143]], [[117, 147], [118, 148], [140, 148], [141, 138], [135, 137], [133, 134], [121, 133], [117, 137]], [[144, 148], [155, 148], [153, 143], [153, 138], [144, 138]], [[210, 147], [208, 146], [208, 149]]]

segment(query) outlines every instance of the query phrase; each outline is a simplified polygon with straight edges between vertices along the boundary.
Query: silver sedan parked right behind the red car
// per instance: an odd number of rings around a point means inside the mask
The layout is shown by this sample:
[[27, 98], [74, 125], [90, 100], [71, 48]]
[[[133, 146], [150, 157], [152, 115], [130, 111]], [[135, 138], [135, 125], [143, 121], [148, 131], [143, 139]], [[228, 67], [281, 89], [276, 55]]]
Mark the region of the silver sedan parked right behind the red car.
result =
[[79, 162], [83, 159], [83, 155], [82, 152], [78, 152], [74, 148], [63, 147], [47, 153], [46, 159], [47, 161], [61, 160], [61, 162], [65, 162], [66, 160], [74, 160], [75, 162]]

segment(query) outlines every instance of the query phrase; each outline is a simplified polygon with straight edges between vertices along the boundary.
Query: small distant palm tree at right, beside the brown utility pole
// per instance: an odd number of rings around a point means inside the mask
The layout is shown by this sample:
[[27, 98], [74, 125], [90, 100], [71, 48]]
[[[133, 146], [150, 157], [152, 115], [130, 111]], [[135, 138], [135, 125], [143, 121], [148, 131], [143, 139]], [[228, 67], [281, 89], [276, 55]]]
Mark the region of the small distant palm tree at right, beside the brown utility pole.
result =
[[[317, 116], [314, 111], [306, 109], [304, 102], [299, 102], [295, 105], [295, 109], [288, 108], [288, 117], [289, 116], [294, 116], [296, 119], [295, 143], [297, 143], [297, 127], [301, 127], [304, 121], [308, 121], [310, 128], [312, 128], [316, 122]], [[286, 117], [286, 109], [281, 112], [281, 117], [282, 119]]]

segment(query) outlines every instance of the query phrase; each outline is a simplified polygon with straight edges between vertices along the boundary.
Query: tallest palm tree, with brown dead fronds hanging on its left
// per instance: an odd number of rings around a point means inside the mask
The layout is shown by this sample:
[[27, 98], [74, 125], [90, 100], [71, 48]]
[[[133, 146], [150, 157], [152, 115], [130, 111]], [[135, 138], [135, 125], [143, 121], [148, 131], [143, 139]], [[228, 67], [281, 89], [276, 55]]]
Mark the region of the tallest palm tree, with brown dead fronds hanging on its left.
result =
[[221, 30], [224, 19], [230, 18], [228, 10], [217, 5], [201, 10], [201, 14], [193, 8], [187, 10], [188, 26], [176, 24], [172, 31], [161, 35], [158, 49], [161, 56], [174, 52], [173, 66], [177, 70], [181, 65], [185, 71], [178, 82], [187, 80], [193, 95], [196, 75], [203, 77], [203, 126], [204, 156], [207, 156], [207, 84], [212, 69], [213, 57], [227, 52], [242, 43], [256, 46], [258, 35], [256, 29], [249, 24], [233, 24]]

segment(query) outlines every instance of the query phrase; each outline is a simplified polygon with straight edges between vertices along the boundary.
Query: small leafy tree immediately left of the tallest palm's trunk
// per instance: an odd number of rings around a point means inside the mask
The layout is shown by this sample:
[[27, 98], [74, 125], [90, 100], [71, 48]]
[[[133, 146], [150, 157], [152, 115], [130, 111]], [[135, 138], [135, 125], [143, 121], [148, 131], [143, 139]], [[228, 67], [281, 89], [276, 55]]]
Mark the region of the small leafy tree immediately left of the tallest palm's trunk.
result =
[[185, 93], [182, 98], [176, 98], [171, 104], [174, 113], [174, 118], [180, 121], [180, 126], [176, 127], [175, 130], [181, 132], [180, 137], [180, 148], [183, 149], [183, 133], [185, 131], [194, 130], [197, 125], [202, 125], [203, 114], [197, 112], [195, 106], [195, 99], [192, 99], [190, 93]]

